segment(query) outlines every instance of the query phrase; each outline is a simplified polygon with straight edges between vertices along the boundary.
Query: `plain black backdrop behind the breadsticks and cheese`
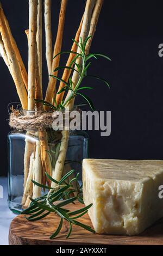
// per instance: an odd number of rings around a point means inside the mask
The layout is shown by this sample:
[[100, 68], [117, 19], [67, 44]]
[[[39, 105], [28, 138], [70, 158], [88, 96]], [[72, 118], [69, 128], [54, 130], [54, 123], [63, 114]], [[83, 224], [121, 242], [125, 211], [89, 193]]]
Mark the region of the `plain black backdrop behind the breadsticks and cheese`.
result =
[[[2, 0], [12, 33], [28, 67], [28, 1]], [[53, 39], [57, 32], [60, 1], [52, 0]], [[70, 50], [85, 7], [84, 0], [69, 0], [62, 50]], [[163, 3], [160, 1], [104, 1], [91, 52], [108, 54], [93, 61], [89, 73], [109, 81], [111, 89], [95, 80], [91, 99], [98, 111], [111, 111], [111, 135], [91, 131], [90, 157], [109, 159], [162, 159], [163, 157]], [[53, 41], [54, 43], [54, 41]], [[43, 41], [43, 50], [45, 42]], [[44, 54], [45, 58], [45, 54]], [[62, 57], [61, 64], [66, 59]], [[18, 101], [15, 85], [3, 59], [1, 77], [1, 171], [7, 174], [8, 103]], [[43, 84], [48, 73], [43, 59]], [[81, 101], [80, 99], [78, 100]]]

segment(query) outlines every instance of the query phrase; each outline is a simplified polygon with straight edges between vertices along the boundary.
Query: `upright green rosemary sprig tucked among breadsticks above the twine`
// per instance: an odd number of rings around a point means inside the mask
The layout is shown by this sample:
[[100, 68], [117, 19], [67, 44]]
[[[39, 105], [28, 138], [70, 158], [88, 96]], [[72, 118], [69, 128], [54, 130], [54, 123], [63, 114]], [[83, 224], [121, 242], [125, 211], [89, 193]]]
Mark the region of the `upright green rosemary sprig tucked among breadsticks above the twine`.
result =
[[[78, 44], [78, 42], [76, 42], [73, 39], [73, 41], [80, 48], [81, 53], [72, 52], [72, 51], [63, 51], [63, 52], [59, 52], [56, 56], [54, 56], [54, 58], [56, 58], [60, 54], [65, 54], [65, 53], [76, 54], [76, 56], [73, 58], [72, 62], [70, 63], [70, 66], [58, 66], [58, 68], [56, 68], [54, 70], [54, 72], [58, 71], [58, 70], [62, 70], [62, 69], [71, 69], [73, 71], [76, 71], [78, 73], [78, 75], [79, 75], [79, 80], [78, 80], [78, 83], [76, 84], [75, 87], [73, 87], [73, 82], [72, 82], [72, 78], [71, 77], [69, 78], [68, 82], [66, 82], [66, 81], [62, 80], [58, 76], [51, 75], [53, 78], [55, 78], [58, 81], [63, 82], [65, 84], [65, 87], [61, 88], [61, 90], [57, 94], [60, 94], [62, 92], [70, 91], [70, 95], [68, 95], [67, 99], [62, 101], [59, 105], [57, 105], [57, 102], [54, 99], [55, 106], [53, 106], [51, 103], [49, 103], [47, 101], [43, 101], [43, 100], [35, 100], [35, 101], [42, 102], [43, 105], [49, 106], [49, 107], [51, 107], [54, 110], [64, 110], [66, 105], [68, 104], [68, 102], [70, 102], [74, 97], [82, 96], [84, 98], [84, 100], [89, 104], [91, 109], [95, 110], [95, 107], [94, 107], [93, 102], [90, 99], [90, 97], [88, 97], [87, 95], [83, 94], [83, 92], [81, 92], [82, 90], [85, 90], [85, 89], [92, 90], [93, 88], [89, 87], [89, 86], [82, 86], [82, 87], [80, 87], [80, 86], [81, 86], [81, 84], [82, 84], [82, 82], [83, 82], [85, 77], [91, 77], [91, 78], [95, 78], [95, 79], [97, 79], [99, 81], [104, 82], [110, 88], [109, 83], [106, 80], [104, 80], [103, 78], [98, 77], [98, 76], [87, 75], [87, 70], [89, 69], [89, 67], [91, 65], [91, 62], [88, 62], [91, 58], [98, 59], [98, 57], [102, 57], [102, 58], [105, 58], [107, 60], [111, 60], [111, 59], [108, 56], [106, 56], [104, 54], [101, 54], [101, 53], [86, 54], [85, 53], [85, 48], [86, 48], [86, 44], [87, 44], [87, 42], [89, 41], [90, 38], [91, 38], [91, 36], [88, 36], [84, 42], [82, 41], [82, 38], [80, 38], [79, 44]], [[76, 60], [78, 58], [82, 59], [81, 64], [77, 64], [76, 63]]]

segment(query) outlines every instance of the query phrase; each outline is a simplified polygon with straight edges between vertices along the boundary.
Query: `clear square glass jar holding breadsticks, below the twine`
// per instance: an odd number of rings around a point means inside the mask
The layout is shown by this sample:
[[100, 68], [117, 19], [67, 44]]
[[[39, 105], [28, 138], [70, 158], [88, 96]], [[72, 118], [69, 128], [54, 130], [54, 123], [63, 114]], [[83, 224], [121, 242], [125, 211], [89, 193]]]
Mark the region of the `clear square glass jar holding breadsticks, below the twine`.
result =
[[[43, 149], [46, 151], [45, 162], [48, 160], [51, 162], [51, 173], [53, 172], [53, 167], [55, 167], [56, 154], [59, 150], [60, 141], [62, 138], [61, 131], [54, 131], [52, 129], [47, 129], [43, 135], [45, 137], [40, 138], [40, 133], [37, 131], [25, 131], [20, 132], [17, 130], [11, 131], [8, 135], [8, 161], [9, 161], [9, 170], [8, 170], [8, 205], [12, 212], [19, 214], [22, 211], [22, 200], [23, 200], [23, 190], [24, 190], [24, 179], [28, 179], [30, 169], [32, 151], [30, 152], [31, 147], [35, 149], [33, 156], [36, 157], [36, 145], [46, 142], [46, 148]], [[26, 146], [27, 142], [30, 147], [28, 148], [28, 159], [30, 157], [30, 163], [24, 161], [24, 155], [26, 155]], [[40, 147], [40, 146], [39, 146]], [[47, 150], [48, 149], [48, 150]], [[41, 150], [40, 150], [41, 152]], [[38, 156], [37, 156], [38, 157]], [[42, 156], [41, 156], [42, 157]], [[88, 136], [86, 132], [83, 131], [70, 131], [70, 136], [68, 139], [68, 148], [66, 153], [66, 159], [64, 164], [64, 172], [68, 172], [71, 169], [74, 169], [76, 174], [79, 174], [79, 182], [82, 182], [82, 160], [88, 157]], [[41, 159], [41, 158], [40, 158]], [[45, 171], [49, 172], [46, 163], [40, 160], [41, 162], [41, 178], [40, 183], [47, 184], [45, 180]], [[28, 165], [28, 175], [24, 178], [24, 168]], [[34, 167], [33, 167], [34, 168]], [[35, 172], [37, 175], [37, 166], [35, 167]], [[44, 176], [45, 175], [45, 176]], [[33, 178], [33, 176], [32, 176]], [[46, 177], [47, 178], [47, 177]], [[33, 178], [34, 179], [34, 178]], [[43, 183], [44, 182], [44, 183]], [[27, 185], [27, 183], [26, 183]], [[30, 185], [31, 186], [31, 185]], [[30, 188], [31, 189], [31, 188]], [[29, 190], [29, 188], [28, 188]], [[45, 191], [40, 188], [40, 193], [43, 194]], [[38, 191], [37, 191], [38, 192]], [[36, 192], [36, 194], [37, 194]]]

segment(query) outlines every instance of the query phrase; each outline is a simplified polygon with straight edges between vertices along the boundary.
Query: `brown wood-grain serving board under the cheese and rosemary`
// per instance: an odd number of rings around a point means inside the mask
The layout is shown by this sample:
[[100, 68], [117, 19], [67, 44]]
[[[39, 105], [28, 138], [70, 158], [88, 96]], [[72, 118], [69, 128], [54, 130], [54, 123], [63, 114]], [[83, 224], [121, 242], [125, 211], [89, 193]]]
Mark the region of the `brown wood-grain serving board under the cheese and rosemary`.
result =
[[[70, 208], [70, 206], [69, 206]], [[71, 211], [81, 208], [81, 204], [71, 204]], [[73, 226], [69, 239], [66, 239], [69, 225], [64, 222], [60, 234], [49, 239], [58, 227], [59, 217], [54, 214], [36, 222], [29, 222], [19, 215], [10, 224], [9, 245], [163, 245], [163, 219], [156, 222], [139, 236], [99, 235]], [[92, 226], [88, 215], [78, 219]]]

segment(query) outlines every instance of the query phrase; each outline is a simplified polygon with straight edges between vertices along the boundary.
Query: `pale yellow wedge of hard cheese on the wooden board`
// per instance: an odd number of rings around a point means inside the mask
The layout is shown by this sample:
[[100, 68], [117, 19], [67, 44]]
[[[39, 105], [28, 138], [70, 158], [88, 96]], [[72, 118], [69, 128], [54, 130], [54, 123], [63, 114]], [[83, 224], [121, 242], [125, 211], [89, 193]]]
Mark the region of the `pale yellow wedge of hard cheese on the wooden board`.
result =
[[163, 217], [163, 161], [83, 160], [83, 197], [97, 233], [136, 235]]

